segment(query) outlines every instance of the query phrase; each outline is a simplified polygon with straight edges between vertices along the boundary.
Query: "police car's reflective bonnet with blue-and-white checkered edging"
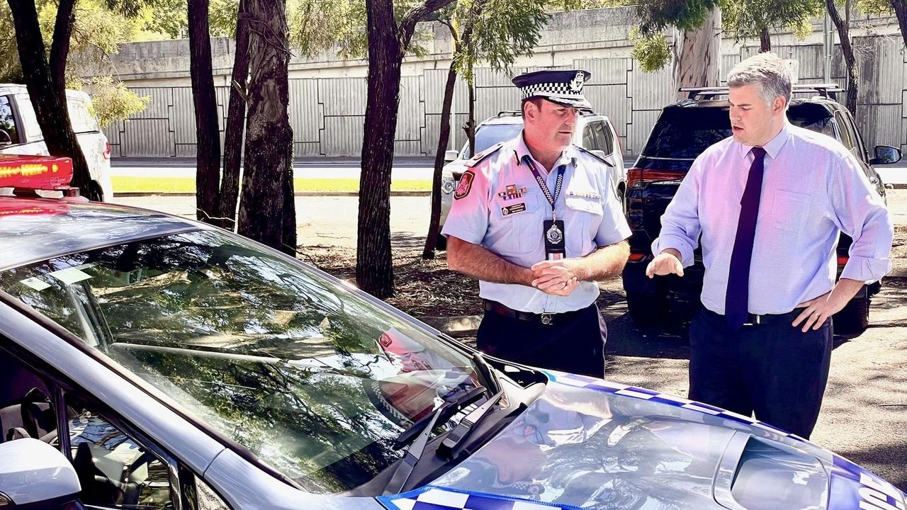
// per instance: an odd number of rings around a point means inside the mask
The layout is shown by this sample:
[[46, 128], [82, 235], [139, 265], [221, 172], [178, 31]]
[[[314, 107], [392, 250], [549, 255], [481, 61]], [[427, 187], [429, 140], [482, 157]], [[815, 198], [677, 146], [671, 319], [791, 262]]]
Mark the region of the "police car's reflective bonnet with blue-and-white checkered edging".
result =
[[904, 494], [802, 438], [686, 398], [551, 372], [520, 417], [387, 508], [904, 510]]

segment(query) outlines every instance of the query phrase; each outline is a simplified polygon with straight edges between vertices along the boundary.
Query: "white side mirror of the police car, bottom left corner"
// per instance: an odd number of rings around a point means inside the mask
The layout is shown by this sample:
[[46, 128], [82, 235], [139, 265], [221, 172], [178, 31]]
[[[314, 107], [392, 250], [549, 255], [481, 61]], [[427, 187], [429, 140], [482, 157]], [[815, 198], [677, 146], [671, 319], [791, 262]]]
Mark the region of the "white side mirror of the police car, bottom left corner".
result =
[[0, 507], [63, 508], [81, 490], [73, 465], [54, 446], [31, 437], [0, 444]]

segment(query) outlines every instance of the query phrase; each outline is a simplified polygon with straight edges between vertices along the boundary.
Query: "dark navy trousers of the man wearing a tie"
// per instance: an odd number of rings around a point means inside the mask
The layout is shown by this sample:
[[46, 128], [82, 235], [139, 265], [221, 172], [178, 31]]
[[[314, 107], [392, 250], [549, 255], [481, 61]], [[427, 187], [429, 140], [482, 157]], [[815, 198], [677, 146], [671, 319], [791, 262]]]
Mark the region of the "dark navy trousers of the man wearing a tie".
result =
[[808, 439], [828, 381], [832, 321], [804, 333], [795, 317], [731, 331], [702, 309], [689, 327], [689, 397]]

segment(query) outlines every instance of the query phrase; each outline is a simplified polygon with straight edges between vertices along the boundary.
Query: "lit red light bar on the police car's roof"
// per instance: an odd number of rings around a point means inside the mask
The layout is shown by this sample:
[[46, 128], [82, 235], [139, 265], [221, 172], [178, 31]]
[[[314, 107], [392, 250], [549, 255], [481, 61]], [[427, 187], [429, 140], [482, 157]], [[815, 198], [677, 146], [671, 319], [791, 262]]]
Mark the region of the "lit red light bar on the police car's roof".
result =
[[72, 180], [69, 158], [0, 154], [0, 188], [67, 190]]

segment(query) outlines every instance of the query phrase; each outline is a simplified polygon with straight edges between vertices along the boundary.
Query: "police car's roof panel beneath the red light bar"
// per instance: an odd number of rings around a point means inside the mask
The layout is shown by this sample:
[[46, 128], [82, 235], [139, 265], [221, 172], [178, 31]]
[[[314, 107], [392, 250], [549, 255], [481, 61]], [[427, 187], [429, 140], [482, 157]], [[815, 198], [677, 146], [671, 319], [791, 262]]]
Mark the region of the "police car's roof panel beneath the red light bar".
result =
[[69, 199], [0, 197], [0, 270], [132, 240], [208, 228], [158, 211]]

